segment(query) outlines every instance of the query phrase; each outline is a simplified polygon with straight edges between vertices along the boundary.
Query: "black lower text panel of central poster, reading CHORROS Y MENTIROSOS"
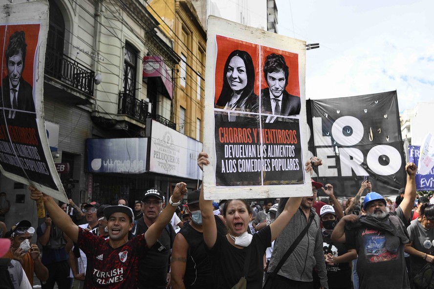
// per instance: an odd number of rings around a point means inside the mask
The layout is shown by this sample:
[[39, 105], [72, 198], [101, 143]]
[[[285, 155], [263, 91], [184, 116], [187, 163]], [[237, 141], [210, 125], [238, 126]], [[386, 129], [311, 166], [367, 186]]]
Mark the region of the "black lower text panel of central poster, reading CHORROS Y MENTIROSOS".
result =
[[[216, 186], [303, 184], [298, 119], [243, 115], [237, 122], [215, 113]], [[261, 123], [258, 120], [261, 120]]]

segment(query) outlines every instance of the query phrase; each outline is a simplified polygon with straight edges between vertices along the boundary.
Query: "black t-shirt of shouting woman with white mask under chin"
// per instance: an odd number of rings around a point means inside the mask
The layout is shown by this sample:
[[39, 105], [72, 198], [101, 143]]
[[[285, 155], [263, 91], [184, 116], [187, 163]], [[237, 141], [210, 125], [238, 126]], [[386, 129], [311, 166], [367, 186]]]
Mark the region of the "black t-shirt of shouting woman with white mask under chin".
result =
[[[263, 257], [271, 246], [270, 226], [264, 227], [253, 235], [250, 243], [250, 262], [247, 279], [248, 289], [261, 289], [263, 277]], [[243, 276], [246, 248], [231, 245], [225, 235], [217, 234], [216, 244], [209, 249], [214, 288], [232, 288]]]

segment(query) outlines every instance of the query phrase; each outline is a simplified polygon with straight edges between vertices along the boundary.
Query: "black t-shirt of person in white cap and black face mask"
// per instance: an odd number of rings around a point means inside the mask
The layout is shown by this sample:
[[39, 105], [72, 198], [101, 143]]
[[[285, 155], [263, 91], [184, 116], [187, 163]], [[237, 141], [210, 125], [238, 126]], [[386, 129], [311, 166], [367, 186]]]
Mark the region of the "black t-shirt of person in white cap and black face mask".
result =
[[[343, 243], [331, 242], [330, 236], [323, 233], [324, 254], [341, 256], [348, 252], [347, 246]], [[325, 265], [327, 270], [327, 284], [330, 288], [348, 288], [351, 286], [351, 268], [349, 263], [339, 263], [333, 266]]]

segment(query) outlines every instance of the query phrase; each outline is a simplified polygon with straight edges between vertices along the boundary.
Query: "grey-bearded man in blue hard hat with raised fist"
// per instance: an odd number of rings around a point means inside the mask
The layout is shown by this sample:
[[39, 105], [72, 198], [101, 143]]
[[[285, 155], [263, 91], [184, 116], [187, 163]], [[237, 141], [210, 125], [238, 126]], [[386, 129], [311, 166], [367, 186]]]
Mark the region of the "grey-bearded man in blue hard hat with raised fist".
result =
[[[365, 216], [347, 215], [336, 225], [331, 239], [355, 248], [358, 254], [359, 288], [410, 289], [404, 258], [409, 243], [406, 226], [416, 198], [416, 165], [407, 163], [404, 200], [389, 212], [386, 200], [370, 192], [363, 201]], [[378, 276], [381, 276], [380, 278]]]

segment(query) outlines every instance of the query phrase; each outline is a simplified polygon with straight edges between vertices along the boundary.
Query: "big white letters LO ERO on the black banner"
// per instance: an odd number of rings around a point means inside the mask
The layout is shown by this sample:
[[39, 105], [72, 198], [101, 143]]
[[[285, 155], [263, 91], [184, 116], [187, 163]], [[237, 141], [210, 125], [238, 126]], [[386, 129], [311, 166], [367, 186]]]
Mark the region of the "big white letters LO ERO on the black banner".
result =
[[[362, 166], [364, 155], [363, 152], [355, 147], [345, 147], [357, 145], [363, 138], [363, 124], [352, 116], [344, 116], [337, 119], [332, 125], [330, 135], [323, 135], [323, 124], [321, 117], [313, 117], [313, 135], [315, 146], [317, 147], [317, 156], [325, 160], [325, 165], [318, 167], [318, 173], [322, 177], [337, 177], [339, 175], [336, 166], [335, 146], [332, 145], [331, 139], [339, 144], [339, 159], [342, 176], [351, 176], [352, 171], [358, 176], [366, 176], [368, 172]], [[348, 127], [348, 135], [345, 135], [343, 129]], [[344, 146], [344, 147], [342, 147]], [[415, 154], [419, 154], [415, 152]], [[389, 164], [380, 164], [379, 158], [389, 160]], [[372, 147], [367, 156], [366, 163], [372, 172], [377, 175], [388, 176], [395, 174], [402, 165], [402, 159], [399, 151], [391, 145], [375, 145]]]

